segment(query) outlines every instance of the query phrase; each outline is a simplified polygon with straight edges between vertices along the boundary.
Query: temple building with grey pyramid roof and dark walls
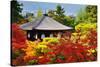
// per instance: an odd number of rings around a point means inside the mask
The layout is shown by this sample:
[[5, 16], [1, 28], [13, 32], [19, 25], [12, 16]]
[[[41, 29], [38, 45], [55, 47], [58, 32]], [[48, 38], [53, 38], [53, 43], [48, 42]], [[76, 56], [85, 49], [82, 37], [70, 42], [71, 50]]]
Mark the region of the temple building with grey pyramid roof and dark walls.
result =
[[45, 37], [61, 37], [61, 33], [72, 30], [72, 27], [65, 26], [53, 18], [44, 14], [43, 16], [20, 25], [20, 28], [27, 32], [27, 39], [35, 40]]

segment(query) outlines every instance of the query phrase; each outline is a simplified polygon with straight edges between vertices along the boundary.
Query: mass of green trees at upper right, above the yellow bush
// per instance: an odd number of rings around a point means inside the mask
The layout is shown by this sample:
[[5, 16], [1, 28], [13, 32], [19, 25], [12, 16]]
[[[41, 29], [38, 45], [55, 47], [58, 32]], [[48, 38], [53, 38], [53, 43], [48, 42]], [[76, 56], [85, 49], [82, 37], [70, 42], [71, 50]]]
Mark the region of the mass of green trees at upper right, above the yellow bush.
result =
[[96, 23], [97, 22], [97, 6], [88, 5], [84, 9], [80, 9], [76, 16], [76, 25], [78, 23], [90, 22]]

